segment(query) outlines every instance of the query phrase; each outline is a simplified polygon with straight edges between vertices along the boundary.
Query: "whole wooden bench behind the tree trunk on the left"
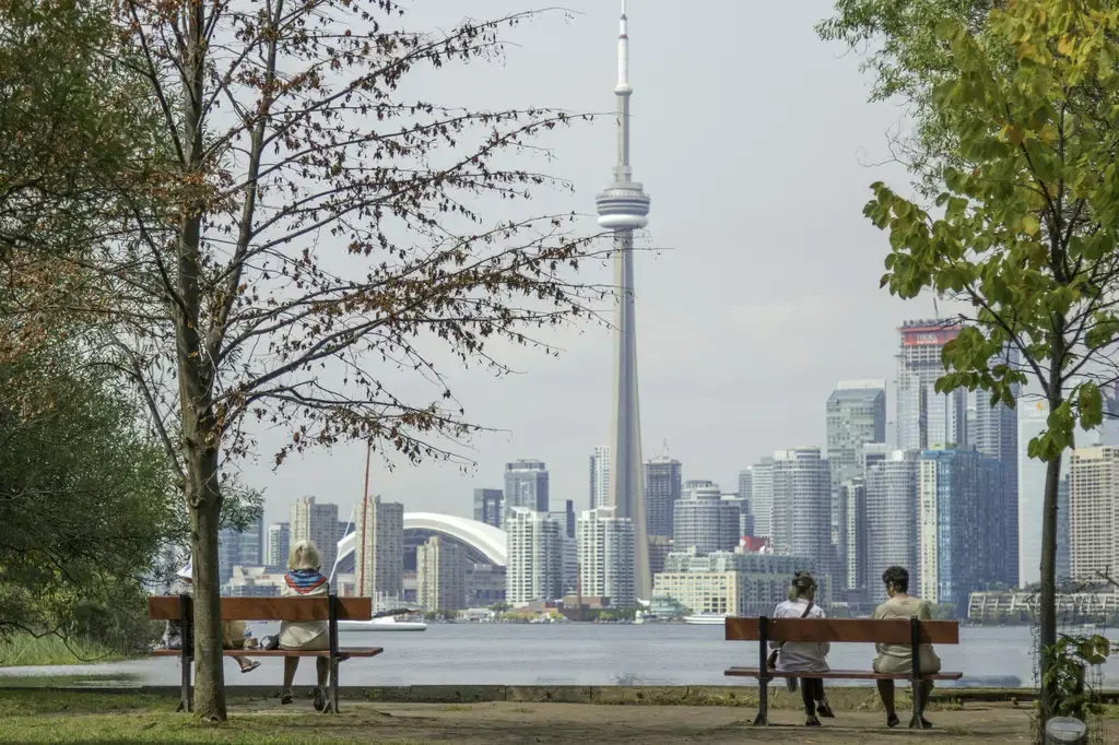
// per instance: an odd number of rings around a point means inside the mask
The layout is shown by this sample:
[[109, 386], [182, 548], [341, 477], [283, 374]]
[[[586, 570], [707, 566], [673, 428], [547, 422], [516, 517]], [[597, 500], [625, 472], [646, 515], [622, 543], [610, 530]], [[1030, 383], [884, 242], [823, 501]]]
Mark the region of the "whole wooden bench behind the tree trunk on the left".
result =
[[[182, 666], [182, 701], [180, 707], [190, 711], [194, 691], [190, 669], [195, 660], [194, 606], [190, 595], [171, 595], [148, 598], [148, 617], [152, 621], [182, 623], [182, 649], [158, 649], [156, 657], [178, 657]], [[373, 601], [368, 597], [223, 597], [223, 621], [326, 621], [329, 636], [325, 650], [264, 650], [225, 649], [224, 657], [326, 657], [330, 660], [330, 705], [338, 713], [338, 663], [351, 657], [376, 657], [380, 647], [338, 647], [339, 621], [368, 621], [373, 617]]]

